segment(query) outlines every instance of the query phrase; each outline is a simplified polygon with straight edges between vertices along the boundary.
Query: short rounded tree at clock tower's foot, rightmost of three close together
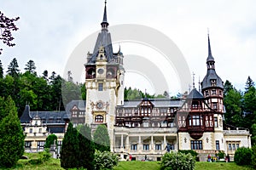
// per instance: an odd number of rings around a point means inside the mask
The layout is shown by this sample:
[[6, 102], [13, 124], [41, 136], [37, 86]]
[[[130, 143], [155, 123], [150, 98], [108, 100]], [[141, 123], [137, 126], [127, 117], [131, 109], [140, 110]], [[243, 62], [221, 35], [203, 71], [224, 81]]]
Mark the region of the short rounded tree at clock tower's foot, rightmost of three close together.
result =
[[96, 128], [93, 139], [96, 150], [110, 151], [108, 128], [105, 125], [101, 124]]

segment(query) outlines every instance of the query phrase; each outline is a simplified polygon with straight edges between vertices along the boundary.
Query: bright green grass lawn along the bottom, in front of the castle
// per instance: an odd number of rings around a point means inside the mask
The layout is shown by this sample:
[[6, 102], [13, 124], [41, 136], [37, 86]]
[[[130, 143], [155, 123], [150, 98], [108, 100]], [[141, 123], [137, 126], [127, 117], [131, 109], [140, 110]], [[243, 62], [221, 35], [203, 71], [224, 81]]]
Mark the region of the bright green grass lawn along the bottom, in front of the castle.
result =
[[[29, 159], [36, 159], [38, 158], [38, 154], [29, 154], [26, 153], [26, 156]], [[33, 170], [33, 169], [42, 169], [42, 170], [63, 170], [61, 168], [60, 160], [56, 160], [50, 158], [49, 161], [44, 162], [40, 165], [32, 165], [28, 162], [29, 160], [20, 160], [18, 161], [17, 165], [12, 169], [26, 169], [26, 170]], [[114, 170], [160, 170], [160, 161], [121, 161], [117, 167], [114, 167]], [[195, 163], [195, 170], [252, 170], [249, 167], [241, 167], [237, 166], [234, 162], [196, 162]]]

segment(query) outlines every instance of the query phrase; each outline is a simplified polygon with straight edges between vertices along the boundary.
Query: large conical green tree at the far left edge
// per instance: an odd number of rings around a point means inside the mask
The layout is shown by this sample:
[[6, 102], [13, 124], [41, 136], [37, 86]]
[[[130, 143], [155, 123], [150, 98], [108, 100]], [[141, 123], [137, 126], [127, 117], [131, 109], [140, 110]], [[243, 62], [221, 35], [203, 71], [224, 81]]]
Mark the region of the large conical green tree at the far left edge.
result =
[[25, 136], [11, 97], [4, 101], [2, 111], [6, 116], [0, 120], [0, 167], [13, 167], [23, 155]]

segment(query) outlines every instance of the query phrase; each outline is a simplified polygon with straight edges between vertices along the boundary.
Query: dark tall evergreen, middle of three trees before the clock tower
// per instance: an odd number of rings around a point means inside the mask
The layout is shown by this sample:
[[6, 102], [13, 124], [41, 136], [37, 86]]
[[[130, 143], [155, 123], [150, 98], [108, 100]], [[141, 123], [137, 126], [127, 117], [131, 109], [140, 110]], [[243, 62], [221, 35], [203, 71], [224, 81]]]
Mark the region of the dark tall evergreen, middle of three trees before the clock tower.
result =
[[90, 127], [85, 124], [79, 131], [79, 167], [94, 169], [95, 147], [91, 139]]

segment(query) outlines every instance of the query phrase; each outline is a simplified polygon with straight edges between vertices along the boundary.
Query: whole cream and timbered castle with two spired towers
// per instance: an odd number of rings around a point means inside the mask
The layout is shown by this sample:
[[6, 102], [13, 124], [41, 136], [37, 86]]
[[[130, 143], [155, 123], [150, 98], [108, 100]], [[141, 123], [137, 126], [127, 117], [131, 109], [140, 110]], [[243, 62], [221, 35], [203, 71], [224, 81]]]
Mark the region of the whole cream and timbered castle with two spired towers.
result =
[[[207, 75], [201, 91], [193, 88], [181, 99], [140, 99], [125, 101], [124, 55], [113, 53], [108, 32], [105, 3], [102, 31], [85, 64], [85, 101], [72, 101], [62, 112], [29, 111], [20, 117], [26, 133], [26, 150], [40, 150], [49, 133], [57, 134], [59, 147], [69, 121], [74, 126], [87, 123], [95, 131], [106, 124], [111, 150], [122, 159], [160, 161], [171, 150], [195, 150], [200, 161], [219, 150], [231, 160], [237, 148], [251, 147], [247, 129], [224, 125], [224, 84], [215, 71], [208, 35]], [[113, 32], [114, 33], [114, 32]]]

